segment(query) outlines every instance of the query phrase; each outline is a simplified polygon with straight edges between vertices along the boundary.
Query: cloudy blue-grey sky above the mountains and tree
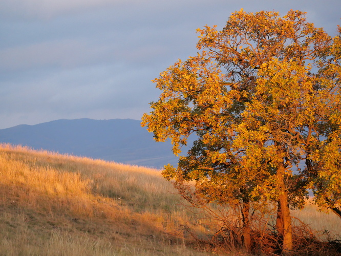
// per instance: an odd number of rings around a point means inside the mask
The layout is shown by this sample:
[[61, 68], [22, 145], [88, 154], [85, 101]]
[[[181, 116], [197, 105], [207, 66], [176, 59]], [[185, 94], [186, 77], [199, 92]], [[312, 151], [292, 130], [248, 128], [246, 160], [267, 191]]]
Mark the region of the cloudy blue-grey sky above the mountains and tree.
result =
[[140, 120], [152, 79], [197, 53], [232, 12], [307, 12], [331, 36], [339, 0], [0, 0], [0, 129], [57, 119]]

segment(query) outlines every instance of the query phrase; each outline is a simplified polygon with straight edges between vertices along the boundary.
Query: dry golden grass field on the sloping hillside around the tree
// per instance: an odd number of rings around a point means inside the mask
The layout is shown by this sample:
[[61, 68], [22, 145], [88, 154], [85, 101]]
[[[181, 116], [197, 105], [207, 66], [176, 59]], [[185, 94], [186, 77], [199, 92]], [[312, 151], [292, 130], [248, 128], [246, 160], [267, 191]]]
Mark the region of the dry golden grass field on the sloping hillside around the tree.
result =
[[[180, 232], [211, 234], [184, 203], [156, 169], [0, 146], [0, 255], [219, 254]], [[293, 216], [341, 230], [313, 205]]]

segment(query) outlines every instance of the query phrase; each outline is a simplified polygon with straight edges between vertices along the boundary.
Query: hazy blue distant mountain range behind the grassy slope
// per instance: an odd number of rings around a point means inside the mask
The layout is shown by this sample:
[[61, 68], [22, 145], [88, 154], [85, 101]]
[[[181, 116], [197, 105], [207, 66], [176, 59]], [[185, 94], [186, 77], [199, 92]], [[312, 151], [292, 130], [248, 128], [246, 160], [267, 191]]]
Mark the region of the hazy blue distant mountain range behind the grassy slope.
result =
[[61, 119], [17, 125], [1, 129], [0, 142], [156, 168], [178, 162], [170, 142], [155, 142], [153, 134], [132, 119]]

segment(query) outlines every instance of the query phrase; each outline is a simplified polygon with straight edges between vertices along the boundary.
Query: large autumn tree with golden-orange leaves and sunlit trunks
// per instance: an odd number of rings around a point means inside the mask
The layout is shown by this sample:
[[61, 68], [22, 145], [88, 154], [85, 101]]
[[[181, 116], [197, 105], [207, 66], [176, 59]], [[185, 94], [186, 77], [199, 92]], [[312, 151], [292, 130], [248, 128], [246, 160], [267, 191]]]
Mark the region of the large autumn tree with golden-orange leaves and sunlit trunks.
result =
[[178, 188], [195, 181], [207, 202], [242, 203], [247, 221], [250, 203], [278, 202], [283, 252], [290, 252], [289, 206], [302, 206], [307, 189], [320, 206], [341, 202], [339, 36], [292, 10], [283, 17], [241, 10], [222, 31], [198, 32], [197, 55], [154, 80], [162, 93], [142, 125], [156, 141], [170, 138], [175, 154], [195, 135], [178, 167], [163, 171]]

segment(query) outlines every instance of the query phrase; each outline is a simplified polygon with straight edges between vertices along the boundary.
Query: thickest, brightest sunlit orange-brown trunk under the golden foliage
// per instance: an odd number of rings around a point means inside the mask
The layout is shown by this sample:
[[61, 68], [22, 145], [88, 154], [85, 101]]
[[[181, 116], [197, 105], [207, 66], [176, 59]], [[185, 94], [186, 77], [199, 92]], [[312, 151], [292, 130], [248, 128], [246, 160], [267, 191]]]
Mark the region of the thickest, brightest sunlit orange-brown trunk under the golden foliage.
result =
[[284, 183], [284, 167], [283, 171], [278, 170], [279, 188], [280, 188], [280, 207], [283, 224], [283, 254], [290, 254], [292, 251], [292, 226], [290, 209], [288, 203], [288, 191]]

